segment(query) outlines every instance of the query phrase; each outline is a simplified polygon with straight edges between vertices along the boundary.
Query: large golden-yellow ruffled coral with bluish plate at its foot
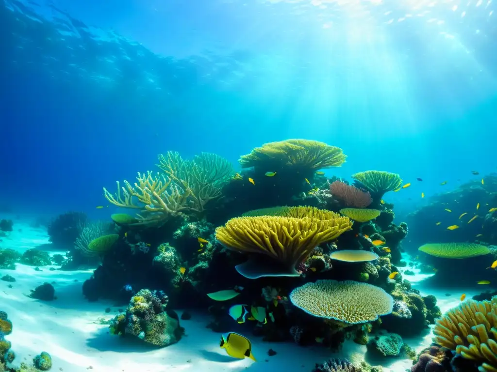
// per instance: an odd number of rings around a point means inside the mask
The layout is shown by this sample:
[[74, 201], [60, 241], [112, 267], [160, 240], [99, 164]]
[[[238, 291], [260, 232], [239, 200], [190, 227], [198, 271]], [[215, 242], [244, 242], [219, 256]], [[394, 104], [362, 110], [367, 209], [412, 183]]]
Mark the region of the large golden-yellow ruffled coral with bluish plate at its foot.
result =
[[216, 238], [226, 248], [270, 257], [270, 262], [259, 259], [238, 265], [237, 270], [248, 278], [298, 276], [295, 266], [304, 261], [315, 247], [336, 239], [351, 228], [347, 217], [336, 216], [327, 220], [237, 217], [229, 220], [226, 226], [218, 227]]

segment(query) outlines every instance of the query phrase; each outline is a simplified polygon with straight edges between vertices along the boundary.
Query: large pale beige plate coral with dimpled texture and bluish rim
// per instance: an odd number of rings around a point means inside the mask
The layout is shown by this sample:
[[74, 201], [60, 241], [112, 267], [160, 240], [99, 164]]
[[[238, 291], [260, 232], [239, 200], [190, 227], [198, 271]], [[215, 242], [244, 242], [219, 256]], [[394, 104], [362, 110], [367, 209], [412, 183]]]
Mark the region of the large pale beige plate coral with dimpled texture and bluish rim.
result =
[[295, 288], [290, 301], [307, 313], [344, 323], [366, 323], [392, 312], [394, 300], [382, 288], [351, 280], [318, 280]]

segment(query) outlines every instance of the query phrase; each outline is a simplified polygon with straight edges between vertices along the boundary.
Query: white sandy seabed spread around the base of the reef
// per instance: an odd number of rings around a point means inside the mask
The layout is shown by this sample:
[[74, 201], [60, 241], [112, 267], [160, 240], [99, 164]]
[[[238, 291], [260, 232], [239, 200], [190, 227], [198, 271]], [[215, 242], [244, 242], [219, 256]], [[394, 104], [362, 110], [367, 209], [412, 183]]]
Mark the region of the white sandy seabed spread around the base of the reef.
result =
[[[48, 243], [46, 232], [42, 229], [29, 228], [19, 222], [14, 225], [14, 232], [7, 239], [2, 238], [0, 247], [15, 248], [24, 251]], [[303, 371], [310, 372], [315, 363], [322, 363], [330, 358], [349, 358], [357, 361], [364, 358], [366, 347], [347, 341], [339, 354], [333, 354], [325, 347], [303, 348], [293, 343], [267, 343], [250, 337], [254, 357], [258, 360], [236, 360], [219, 348], [220, 334], [205, 326], [209, 317], [193, 313], [191, 320], [182, 320], [186, 336], [177, 344], [162, 349], [150, 348], [137, 340], [123, 339], [109, 335], [107, 325], [96, 324], [99, 317], [109, 319], [117, 313], [118, 307], [108, 301], [89, 303], [83, 298], [83, 281], [90, 277], [91, 271], [35, 271], [33, 267], [17, 265], [16, 270], [0, 270], [0, 277], [9, 274], [16, 282], [0, 281], [0, 310], [8, 313], [14, 330], [7, 339], [12, 342], [12, 350], [17, 358], [13, 365], [30, 361], [41, 351], [50, 353], [53, 358], [52, 371], [62, 369], [66, 372], [83, 372], [90, 369], [96, 372], [148, 372], [148, 371]], [[403, 269], [404, 270], [404, 269]], [[415, 270], [414, 270], [415, 271]], [[428, 275], [429, 276], [429, 275]], [[428, 290], [422, 287], [426, 275], [405, 275], [423, 294], [434, 294], [442, 311], [459, 303], [461, 293], [452, 290]], [[26, 295], [30, 289], [44, 282], [55, 282], [57, 300], [42, 302]], [[13, 288], [7, 286], [12, 284]], [[445, 292], [451, 293], [446, 297]], [[467, 291], [468, 297], [476, 294]], [[105, 308], [112, 311], [105, 313]], [[119, 307], [125, 308], [125, 306]], [[233, 331], [237, 332], [234, 323]], [[239, 331], [240, 332], [240, 331]], [[416, 351], [430, 343], [430, 334], [425, 337], [406, 339]], [[269, 357], [267, 351], [273, 349], [277, 355]], [[412, 366], [412, 361], [405, 359], [366, 360], [375, 365], [384, 366], [385, 372], [404, 372]]]

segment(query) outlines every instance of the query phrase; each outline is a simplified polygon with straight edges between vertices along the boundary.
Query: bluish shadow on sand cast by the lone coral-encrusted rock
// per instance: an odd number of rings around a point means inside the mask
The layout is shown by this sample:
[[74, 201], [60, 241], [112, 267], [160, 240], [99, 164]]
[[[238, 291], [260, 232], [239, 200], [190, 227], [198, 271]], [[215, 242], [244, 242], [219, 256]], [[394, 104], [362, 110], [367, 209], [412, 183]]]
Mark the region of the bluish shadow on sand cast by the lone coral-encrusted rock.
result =
[[160, 346], [147, 344], [136, 337], [111, 335], [107, 327], [99, 329], [93, 337], [86, 340], [86, 346], [98, 351], [116, 353], [147, 353], [162, 349]]

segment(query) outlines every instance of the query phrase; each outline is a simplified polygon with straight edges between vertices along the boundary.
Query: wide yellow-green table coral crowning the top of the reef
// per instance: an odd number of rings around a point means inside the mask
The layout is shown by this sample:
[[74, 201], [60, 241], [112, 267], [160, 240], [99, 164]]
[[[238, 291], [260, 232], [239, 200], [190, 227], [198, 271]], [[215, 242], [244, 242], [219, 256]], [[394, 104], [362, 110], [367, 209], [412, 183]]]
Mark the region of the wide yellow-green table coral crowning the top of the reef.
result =
[[339, 167], [346, 156], [339, 147], [307, 139], [287, 139], [265, 143], [243, 155], [239, 162], [242, 168], [272, 166], [274, 169], [294, 167], [317, 170]]

